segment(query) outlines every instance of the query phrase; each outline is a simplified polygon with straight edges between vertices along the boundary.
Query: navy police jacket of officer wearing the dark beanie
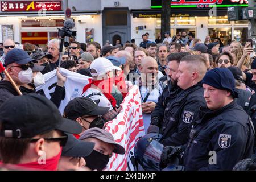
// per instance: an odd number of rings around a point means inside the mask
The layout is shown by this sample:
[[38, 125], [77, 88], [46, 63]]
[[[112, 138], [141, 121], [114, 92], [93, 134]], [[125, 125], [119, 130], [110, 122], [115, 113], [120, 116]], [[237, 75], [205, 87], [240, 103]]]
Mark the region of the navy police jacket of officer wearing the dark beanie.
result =
[[200, 109], [200, 113], [183, 155], [185, 170], [232, 170], [239, 160], [253, 154], [250, 117], [235, 101], [217, 111]]

